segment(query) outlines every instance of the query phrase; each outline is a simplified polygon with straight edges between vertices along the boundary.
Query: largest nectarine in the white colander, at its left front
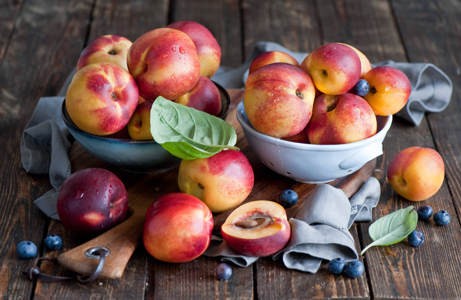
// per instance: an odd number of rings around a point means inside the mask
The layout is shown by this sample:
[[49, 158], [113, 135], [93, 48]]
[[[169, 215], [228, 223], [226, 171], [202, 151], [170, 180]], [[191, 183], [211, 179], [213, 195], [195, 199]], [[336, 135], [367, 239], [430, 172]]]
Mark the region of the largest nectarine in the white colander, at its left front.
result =
[[[304, 99], [296, 92], [301, 92]], [[289, 63], [271, 63], [248, 75], [243, 103], [257, 131], [285, 138], [306, 127], [314, 95], [313, 81], [306, 72]]]

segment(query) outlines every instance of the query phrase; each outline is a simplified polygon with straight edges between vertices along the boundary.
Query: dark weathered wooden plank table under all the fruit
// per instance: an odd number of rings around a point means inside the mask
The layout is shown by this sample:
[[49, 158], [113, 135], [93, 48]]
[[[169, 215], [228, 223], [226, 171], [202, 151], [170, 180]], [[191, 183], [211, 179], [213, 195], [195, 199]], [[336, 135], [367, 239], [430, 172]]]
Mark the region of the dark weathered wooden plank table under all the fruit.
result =
[[[20, 162], [20, 136], [38, 98], [57, 93], [83, 47], [96, 37], [118, 34], [135, 40], [150, 29], [187, 19], [212, 31], [227, 66], [242, 63], [254, 42], [272, 40], [305, 52], [341, 41], [357, 46], [371, 62], [431, 62], [443, 69], [454, 86], [449, 107], [428, 114], [419, 127], [394, 118], [374, 173], [382, 195], [373, 220], [414, 204], [396, 195], [386, 169], [400, 150], [418, 145], [443, 157], [446, 180], [424, 204], [447, 210], [451, 223], [420, 222], [426, 242], [419, 248], [407, 242], [370, 248], [363, 259], [365, 273], [357, 279], [333, 276], [325, 263], [309, 274], [263, 258], [248, 268], [234, 267], [230, 280], [217, 281], [215, 259], [167, 264], [140, 246], [122, 280], [89, 286], [29, 281], [21, 271], [30, 260], [17, 258], [18, 242], [32, 240], [40, 256], [55, 255], [43, 247], [48, 233], [63, 237], [64, 250], [84, 242], [32, 204], [51, 188], [46, 175], [27, 174]], [[0, 0], [0, 29], [0, 299], [461, 299], [460, 0]], [[238, 98], [238, 91], [233, 96]], [[176, 180], [123, 176], [104, 166], [130, 184]], [[282, 188], [302, 187], [280, 178], [280, 187], [271, 187], [275, 196]], [[368, 226], [351, 228], [357, 248], [370, 242]], [[64, 273], [51, 264], [43, 269]]]

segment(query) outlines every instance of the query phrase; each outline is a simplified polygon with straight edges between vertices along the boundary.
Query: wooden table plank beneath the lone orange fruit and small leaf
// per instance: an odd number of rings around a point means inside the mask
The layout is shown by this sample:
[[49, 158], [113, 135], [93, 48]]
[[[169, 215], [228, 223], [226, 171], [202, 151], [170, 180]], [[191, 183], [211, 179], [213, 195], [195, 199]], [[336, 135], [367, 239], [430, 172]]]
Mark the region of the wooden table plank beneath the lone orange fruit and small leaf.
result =
[[[413, 13], [418, 15], [408, 1], [404, 7], [402, 18], [407, 19]], [[407, 53], [400, 50], [403, 45], [388, 1], [319, 1], [319, 9], [325, 40], [342, 40], [360, 50], [364, 48], [366, 50], [363, 52], [371, 62], [385, 58], [396, 61], [407, 59]], [[401, 26], [401, 30], [403, 27], [406, 26]], [[338, 28], [345, 28], [345, 31], [338, 31]], [[408, 52], [408, 55], [411, 53]], [[419, 127], [394, 118], [384, 139], [384, 155], [378, 160], [377, 168], [381, 171], [376, 173], [376, 177], [380, 180], [382, 194], [373, 211], [373, 220], [400, 208], [421, 205], [398, 196], [385, 177], [392, 158], [410, 146], [435, 147], [426, 118]], [[450, 214], [455, 214], [446, 183], [424, 204], [431, 205], [434, 211], [444, 208]], [[359, 228], [362, 247], [371, 242], [368, 226], [363, 223]], [[459, 223], [452, 222], [441, 228], [430, 220], [419, 222], [417, 229], [426, 236], [425, 243], [419, 248], [410, 247], [404, 241], [386, 247], [373, 247], [364, 254], [374, 299], [459, 299], [460, 279], [454, 276], [458, 267], [453, 264], [453, 261], [461, 260], [457, 250], [461, 238]]]

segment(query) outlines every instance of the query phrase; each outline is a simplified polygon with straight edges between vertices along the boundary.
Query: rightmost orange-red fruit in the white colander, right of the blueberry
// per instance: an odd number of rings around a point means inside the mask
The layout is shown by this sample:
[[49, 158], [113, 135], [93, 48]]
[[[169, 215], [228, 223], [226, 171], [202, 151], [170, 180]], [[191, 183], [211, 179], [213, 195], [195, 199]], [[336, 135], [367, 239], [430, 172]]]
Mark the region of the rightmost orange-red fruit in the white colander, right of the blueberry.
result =
[[407, 104], [411, 84], [401, 70], [379, 66], [368, 71], [364, 79], [370, 84], [370, 92], [363, 98], [376, 115], [393, 115]]

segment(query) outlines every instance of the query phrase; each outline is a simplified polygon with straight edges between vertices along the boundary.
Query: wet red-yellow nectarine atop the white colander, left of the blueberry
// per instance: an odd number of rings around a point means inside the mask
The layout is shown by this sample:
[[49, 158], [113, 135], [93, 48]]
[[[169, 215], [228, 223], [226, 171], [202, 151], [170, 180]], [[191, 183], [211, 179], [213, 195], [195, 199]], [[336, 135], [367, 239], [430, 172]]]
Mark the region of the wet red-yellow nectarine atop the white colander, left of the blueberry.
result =
[[320, 46], [310, 59], [308, 71], [320, 92], [340, 95], [360, 79], [360, 58], [348, 46], [337, 43]]

